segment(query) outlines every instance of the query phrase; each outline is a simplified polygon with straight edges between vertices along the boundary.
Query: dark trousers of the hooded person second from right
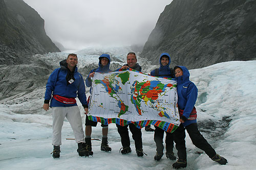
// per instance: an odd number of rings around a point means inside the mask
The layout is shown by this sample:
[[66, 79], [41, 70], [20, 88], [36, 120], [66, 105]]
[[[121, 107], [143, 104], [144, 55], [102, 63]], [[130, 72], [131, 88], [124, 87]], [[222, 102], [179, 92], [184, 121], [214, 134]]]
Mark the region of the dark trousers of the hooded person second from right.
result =
[[[164, 130], [162, 130], [161, 128], [158, 128], [157, 126], [155, 126], [155, 134], [154, 134], [154, 140], [156, 142], [157, 145], [157, 152], [159, 154], [163, 153], [163, 135], [164, 135]], [[166, 133], [166, 137], [165, 137], [165, 144], [166, 144], [166, 153], [173, 153], [173, 148], [174, 148], [174, 137], [172, 133]]]

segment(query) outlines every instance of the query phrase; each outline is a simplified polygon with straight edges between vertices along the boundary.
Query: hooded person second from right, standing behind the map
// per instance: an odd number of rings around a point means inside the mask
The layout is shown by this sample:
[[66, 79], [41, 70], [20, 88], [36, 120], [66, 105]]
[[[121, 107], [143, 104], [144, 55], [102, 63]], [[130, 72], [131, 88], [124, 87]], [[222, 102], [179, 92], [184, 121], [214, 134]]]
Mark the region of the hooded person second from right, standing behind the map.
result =
[[[170, 68], [170, 55], [168, 53], [162, 53], [159, 58], [160, 67], [151, 71], [151, 76], [159, 76], [164, 78], [175, 78], [173, 68]], [[170, 160], [176, 160], [174, 155], [174, 137], [172, 133], [165, 132], [165, 144], [166, 144], [166, 157]], [[155, 160], [159, 161], [163, 156], [163, 136], [164, 130], [155, 126], [154, 140], [156, 142], [157, 153], [154, 157]]]

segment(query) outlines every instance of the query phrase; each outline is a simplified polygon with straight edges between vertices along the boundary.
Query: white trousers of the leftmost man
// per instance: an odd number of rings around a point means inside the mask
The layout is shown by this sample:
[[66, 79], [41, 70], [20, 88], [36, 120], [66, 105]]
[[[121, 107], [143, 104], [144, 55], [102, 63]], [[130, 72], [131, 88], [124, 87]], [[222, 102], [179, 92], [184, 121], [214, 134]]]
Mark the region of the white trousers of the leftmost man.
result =
[[76, 142], [84, 141], [84, 133], [82, 129], [82, 119], [78, 106], [71, 107], [52, 107], [52, 144], [61, 145], [61, 129], [64, 118], [67, 117], [71, 128], [74, 132]]

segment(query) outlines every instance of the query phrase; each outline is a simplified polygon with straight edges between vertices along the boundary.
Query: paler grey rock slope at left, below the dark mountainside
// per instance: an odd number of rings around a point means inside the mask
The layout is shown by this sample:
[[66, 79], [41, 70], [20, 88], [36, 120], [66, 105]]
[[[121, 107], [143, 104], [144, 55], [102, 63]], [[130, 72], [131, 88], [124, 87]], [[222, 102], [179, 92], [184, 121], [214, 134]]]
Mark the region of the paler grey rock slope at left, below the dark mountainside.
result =
[[46, 85], [52, 65], [40, 59], [32, 61], [32, 64], [2, 65], [0, 100], [16, 94], [22, 96]]

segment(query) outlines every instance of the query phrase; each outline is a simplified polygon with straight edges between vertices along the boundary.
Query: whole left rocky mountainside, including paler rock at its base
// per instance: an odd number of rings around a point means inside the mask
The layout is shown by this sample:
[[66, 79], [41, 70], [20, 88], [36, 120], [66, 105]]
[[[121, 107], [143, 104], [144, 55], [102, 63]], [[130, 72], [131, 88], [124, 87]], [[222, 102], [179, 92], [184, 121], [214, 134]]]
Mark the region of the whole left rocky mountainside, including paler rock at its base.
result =
[[49, 52], [59, 49], [44, 19], [22, 0], [0, 0], [0, 100], [45, 86], [53, 66], [32, 55]]

